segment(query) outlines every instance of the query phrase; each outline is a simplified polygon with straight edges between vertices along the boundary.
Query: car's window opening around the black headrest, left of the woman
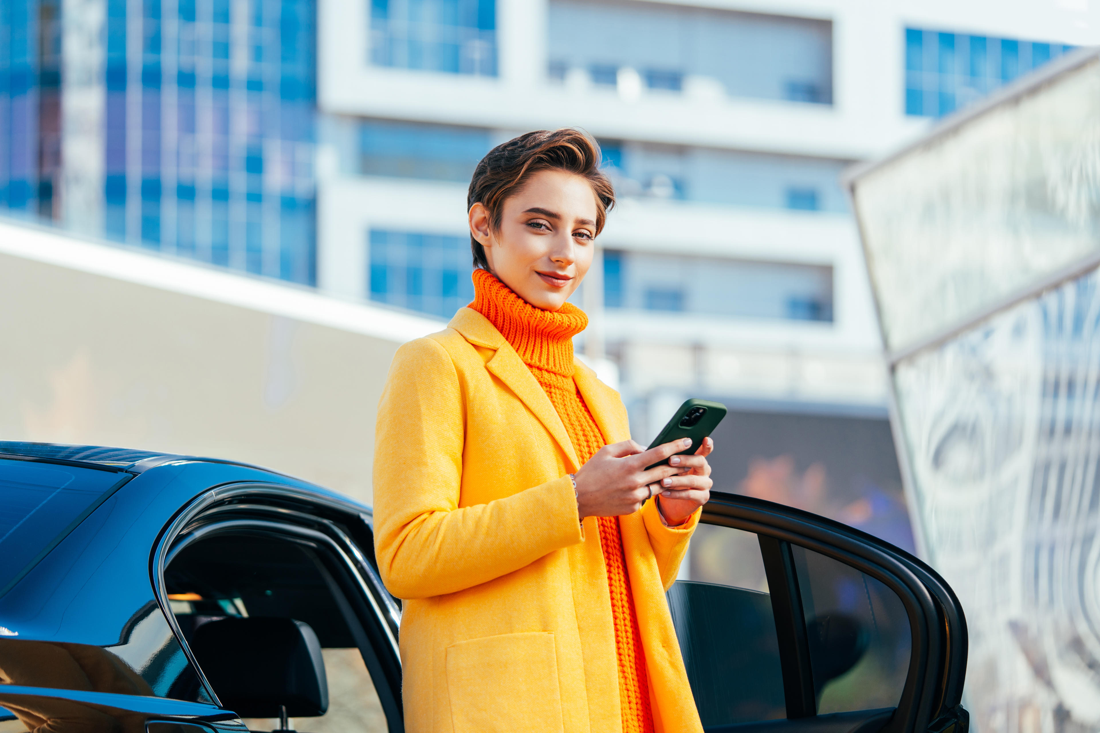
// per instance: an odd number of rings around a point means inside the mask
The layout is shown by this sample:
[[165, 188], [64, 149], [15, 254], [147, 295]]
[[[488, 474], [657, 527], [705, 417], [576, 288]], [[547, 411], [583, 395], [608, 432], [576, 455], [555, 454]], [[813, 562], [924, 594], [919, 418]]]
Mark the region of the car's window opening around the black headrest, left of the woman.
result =
[[[193, 649], [199, 630], [223, 619], [293, 619], [308, 625], [321, 647], [328, 709], [322, 715], [294, 718], [290, 728], [310, 733], [383, 733], [387, 725], [382, 704], [322, 554], [316, 546], [274, 535], [200, 540], [166, 568], [168, 601]], [[207, 671], [204, 659], [198, 662]], [[239, 662], [248, 668], [248, 659]], [[211, 685], [221, 695], [212, 679]], [[244, 722], [252, 731], [279, 728], [275, 718]]]

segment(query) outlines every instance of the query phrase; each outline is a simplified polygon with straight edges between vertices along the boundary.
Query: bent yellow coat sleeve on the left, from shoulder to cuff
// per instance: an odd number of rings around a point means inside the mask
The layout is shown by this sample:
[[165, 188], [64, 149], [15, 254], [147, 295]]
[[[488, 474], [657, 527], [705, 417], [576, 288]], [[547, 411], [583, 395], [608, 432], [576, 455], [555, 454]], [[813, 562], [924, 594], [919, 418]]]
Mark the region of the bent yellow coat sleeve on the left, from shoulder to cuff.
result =
[[402, 346], [374, 435], [374, 545], [386, 588], [404, 599], [472, 588], [583, 540], [568, 476], [459, 508], [465, 395], [433, 338]]

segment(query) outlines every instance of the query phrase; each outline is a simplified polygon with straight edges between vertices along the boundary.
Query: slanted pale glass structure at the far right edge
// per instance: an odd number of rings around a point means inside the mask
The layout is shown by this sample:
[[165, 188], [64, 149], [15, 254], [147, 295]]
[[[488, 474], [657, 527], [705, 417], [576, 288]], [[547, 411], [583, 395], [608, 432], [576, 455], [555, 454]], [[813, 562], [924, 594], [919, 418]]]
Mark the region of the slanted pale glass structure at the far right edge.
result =
[[1097, 130], [1092, 52], [853, 184], [917, 544], [977, 632], [979, 731], [1097, 724]]

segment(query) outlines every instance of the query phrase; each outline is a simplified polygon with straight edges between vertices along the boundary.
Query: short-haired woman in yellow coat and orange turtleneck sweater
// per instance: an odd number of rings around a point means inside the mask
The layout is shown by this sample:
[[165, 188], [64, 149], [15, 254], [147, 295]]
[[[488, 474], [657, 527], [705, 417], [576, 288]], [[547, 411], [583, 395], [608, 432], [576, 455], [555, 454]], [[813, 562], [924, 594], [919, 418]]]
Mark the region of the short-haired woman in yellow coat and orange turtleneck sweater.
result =
[[713, 443], [646, 470], [685, 446], [630, 441], [618, 393], [573, 358], [587, 319], [565, 301], [615, 200], [600, 159], [574, 130], [485, 156], [474, 301], [389, 370], [375, 549], [404, 599], [413, 733], [702, 730], [664, 591]]

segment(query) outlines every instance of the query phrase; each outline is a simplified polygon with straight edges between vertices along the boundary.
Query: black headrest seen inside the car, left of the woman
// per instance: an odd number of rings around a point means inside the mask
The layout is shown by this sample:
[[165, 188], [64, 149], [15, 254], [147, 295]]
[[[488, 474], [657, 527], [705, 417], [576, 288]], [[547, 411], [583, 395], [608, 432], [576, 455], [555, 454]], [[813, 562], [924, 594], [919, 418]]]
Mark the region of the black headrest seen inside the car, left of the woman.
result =
[[323, 715], [329, 709], [321, 644], [309, 624], [252, 617], [198, 626], [191, 651], [222, 707], [241, 718]]

